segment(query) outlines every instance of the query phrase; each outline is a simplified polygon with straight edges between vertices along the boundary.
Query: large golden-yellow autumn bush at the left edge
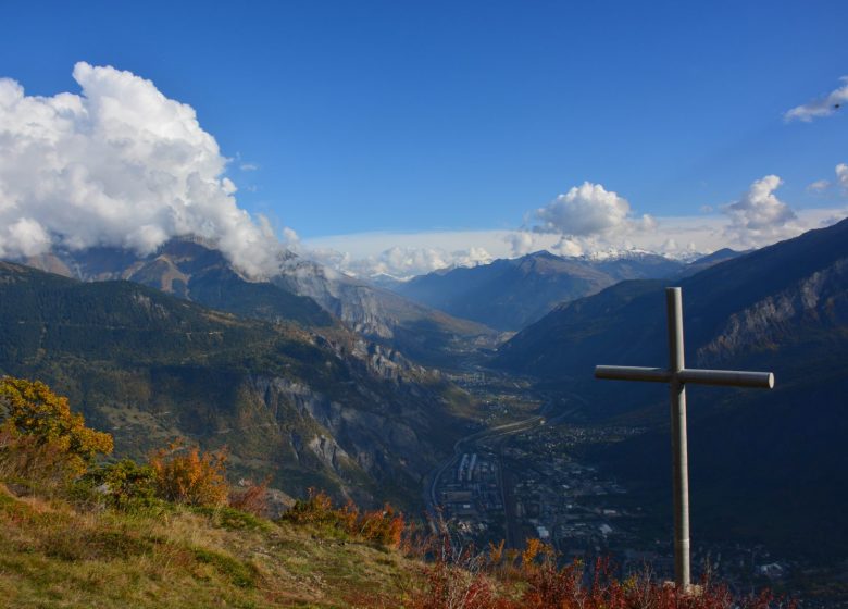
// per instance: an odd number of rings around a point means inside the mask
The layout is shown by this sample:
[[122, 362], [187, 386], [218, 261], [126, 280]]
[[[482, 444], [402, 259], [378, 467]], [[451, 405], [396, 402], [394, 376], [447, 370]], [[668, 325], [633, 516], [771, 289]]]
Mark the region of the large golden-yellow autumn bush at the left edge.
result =
[[43, 383], [0, 378], [0, 475], [59, 484], [113, 447], [110, 434], [86, 427], [67, 398]]

